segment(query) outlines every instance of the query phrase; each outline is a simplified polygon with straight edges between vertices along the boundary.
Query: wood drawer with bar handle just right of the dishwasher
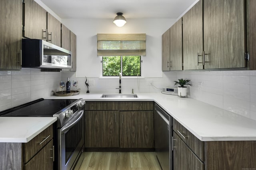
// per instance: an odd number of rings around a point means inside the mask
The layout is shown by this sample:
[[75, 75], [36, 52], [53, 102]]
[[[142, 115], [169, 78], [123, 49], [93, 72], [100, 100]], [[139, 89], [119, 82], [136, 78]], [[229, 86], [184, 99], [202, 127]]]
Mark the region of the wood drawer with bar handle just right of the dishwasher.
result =
[[204, 161], [204, 142], [195, 137], [188, 129], [173, 119], [173, 130], [190, 147], [190, 149]]

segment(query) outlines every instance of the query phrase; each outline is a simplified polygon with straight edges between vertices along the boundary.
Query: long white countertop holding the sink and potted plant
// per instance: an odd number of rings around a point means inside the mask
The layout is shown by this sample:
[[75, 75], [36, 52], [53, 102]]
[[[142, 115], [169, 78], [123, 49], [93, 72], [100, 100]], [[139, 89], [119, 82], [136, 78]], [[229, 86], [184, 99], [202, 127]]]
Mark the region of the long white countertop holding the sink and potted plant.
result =
[[256, 121], [192, 98], [161, 93], [136, 93], [138, 98], [100, 98], [101, 94], [51, 99], [85, 101], [154, 101], [201, 141], [256, 141]]

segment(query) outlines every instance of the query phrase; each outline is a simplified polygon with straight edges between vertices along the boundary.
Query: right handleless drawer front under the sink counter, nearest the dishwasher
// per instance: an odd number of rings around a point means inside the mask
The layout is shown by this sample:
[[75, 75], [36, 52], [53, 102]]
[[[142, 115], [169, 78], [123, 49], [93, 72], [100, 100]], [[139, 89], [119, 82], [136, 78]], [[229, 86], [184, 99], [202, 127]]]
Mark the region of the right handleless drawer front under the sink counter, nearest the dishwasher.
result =
[[153, 110], [153, 102], [120, 102], [119, 110]]

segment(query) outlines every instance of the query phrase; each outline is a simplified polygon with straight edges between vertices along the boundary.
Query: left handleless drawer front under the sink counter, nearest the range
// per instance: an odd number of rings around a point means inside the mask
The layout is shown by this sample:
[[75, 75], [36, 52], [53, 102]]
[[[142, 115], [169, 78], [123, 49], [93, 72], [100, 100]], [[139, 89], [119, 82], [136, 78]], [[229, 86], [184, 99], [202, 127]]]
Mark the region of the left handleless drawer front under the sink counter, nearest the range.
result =
[[85, 110], [118, 110], [119, 102], [86, 102]]

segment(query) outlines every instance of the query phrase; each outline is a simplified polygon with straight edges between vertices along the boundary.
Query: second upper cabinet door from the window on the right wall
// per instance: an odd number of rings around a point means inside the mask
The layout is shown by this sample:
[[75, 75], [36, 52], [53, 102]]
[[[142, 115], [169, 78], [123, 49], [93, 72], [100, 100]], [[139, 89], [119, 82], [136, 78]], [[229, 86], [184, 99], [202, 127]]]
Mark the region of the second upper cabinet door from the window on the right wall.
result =
[[170, 70], [182, 70], [182, 18], [170, 27]]

